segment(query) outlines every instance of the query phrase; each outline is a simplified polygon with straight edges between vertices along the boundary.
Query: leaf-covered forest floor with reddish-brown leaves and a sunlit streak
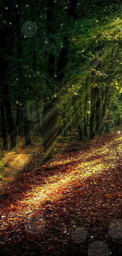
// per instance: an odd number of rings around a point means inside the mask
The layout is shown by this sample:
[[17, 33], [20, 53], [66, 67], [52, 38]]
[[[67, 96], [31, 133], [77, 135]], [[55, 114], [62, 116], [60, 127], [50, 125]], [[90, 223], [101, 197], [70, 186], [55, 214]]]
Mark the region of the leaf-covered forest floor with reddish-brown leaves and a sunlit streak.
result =
[[30, 149], [28, 172], [19, 166], [0, 182], [0, 255], [122, 255], [118, 130], [85, 142], [68, 135], [42, 166], [37, 145]]

